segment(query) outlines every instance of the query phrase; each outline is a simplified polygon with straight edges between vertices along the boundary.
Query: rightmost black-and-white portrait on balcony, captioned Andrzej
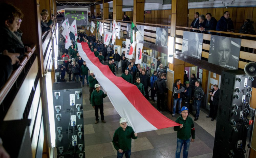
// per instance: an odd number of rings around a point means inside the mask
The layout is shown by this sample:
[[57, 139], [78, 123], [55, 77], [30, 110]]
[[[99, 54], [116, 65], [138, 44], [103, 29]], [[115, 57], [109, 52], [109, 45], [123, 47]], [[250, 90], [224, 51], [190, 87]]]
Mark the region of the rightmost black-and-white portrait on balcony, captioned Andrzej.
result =
[[241, 39], [211, 35], [208, 62], [231, 70], [238, 69]]

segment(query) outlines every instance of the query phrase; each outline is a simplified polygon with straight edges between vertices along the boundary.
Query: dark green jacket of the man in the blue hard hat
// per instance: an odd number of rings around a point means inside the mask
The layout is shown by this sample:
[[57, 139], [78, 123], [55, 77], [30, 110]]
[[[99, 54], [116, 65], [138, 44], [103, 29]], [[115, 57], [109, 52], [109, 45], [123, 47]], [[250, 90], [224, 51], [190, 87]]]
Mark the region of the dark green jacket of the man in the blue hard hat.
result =
[[183, 124], [183, 128], [180, 128], [180, 126], [174, 127], [174, 131], [178, 131], [177, 138], [186, 140], [189, 139], [192, 135], [192, 139], [195, 139], [195, 127], [191, 117], [187, 116], [187, 119], [185, 121], [183, 117], [180, 116], [175, 122]]

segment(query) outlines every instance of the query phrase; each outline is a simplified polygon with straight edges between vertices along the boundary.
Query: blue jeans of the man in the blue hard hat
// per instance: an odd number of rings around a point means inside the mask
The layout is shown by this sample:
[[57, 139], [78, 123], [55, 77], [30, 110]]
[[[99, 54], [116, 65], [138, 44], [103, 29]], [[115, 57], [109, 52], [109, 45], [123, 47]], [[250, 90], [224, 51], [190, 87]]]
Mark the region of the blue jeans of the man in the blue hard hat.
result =
[[186, 139], [186, 140], [177, 138], [177, 148], [176, 148], [175, 158], [180, 158], [181, 149], [182, 149], [183, 145], [184, 145], [184, 147], [183, 147], [183, 158], [187, 158], [189, 144], [190, 144], [190, 138]]

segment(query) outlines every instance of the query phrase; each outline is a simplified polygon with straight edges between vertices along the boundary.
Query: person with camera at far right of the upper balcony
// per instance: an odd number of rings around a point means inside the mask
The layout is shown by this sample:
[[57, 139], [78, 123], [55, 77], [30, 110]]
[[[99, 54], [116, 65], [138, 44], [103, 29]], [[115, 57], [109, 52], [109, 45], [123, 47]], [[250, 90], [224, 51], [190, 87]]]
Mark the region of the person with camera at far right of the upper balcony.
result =
[[[244, 21], [244, 24], [240, 27], [239, 33], [243, 33], [243, 34], [252, 34], [255, 35], [255, 31], [254, 31], [254, 27], [252, 25], [253, 21], [251, 21], [250, 19], [246, 19]], [[243, 38], [243, 39], [251, 39], [254, 40], [255, 37], [248, 37], [248, 36], [238, 36], [238, 38]]]

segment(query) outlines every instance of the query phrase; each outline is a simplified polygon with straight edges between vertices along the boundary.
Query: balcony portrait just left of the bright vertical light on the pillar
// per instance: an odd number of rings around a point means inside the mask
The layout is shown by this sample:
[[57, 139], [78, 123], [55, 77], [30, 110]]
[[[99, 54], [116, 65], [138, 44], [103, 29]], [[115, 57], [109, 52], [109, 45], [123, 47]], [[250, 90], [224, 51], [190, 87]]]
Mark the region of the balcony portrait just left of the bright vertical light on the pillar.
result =
[[168, 43], [168, 29], [156, 28], [156, 45], [161, 47], [167, 47]]

